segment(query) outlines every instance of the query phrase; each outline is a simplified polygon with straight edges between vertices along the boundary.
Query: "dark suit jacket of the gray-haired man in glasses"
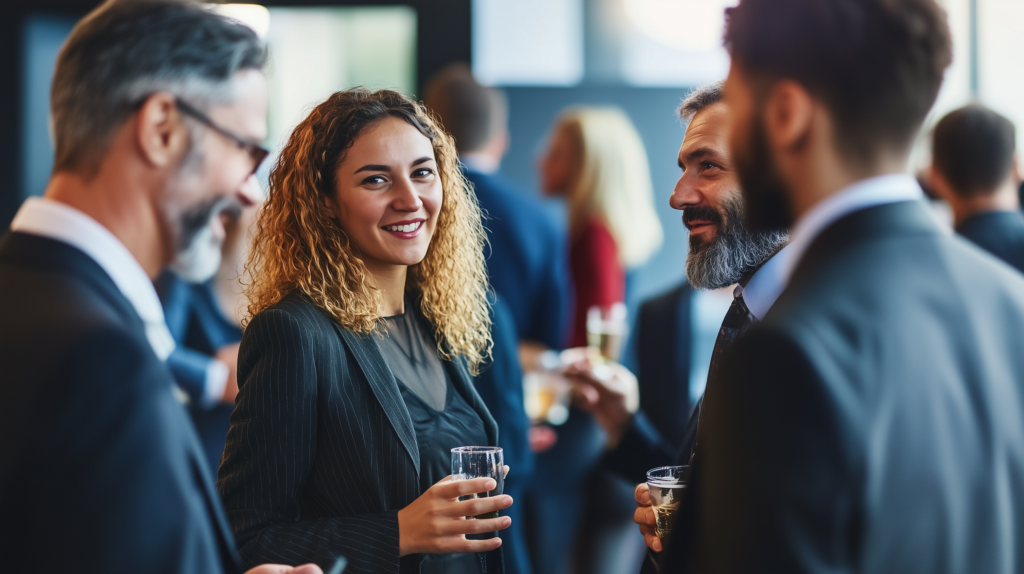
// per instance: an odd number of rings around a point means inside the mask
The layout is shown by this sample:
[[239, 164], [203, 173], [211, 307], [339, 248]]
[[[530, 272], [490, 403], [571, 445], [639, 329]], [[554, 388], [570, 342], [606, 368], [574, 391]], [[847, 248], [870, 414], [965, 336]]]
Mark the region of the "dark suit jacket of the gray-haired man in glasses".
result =
[[0, 240], [0, 556], [10, 572], [237, 572], [142, 322], [67, 244]]

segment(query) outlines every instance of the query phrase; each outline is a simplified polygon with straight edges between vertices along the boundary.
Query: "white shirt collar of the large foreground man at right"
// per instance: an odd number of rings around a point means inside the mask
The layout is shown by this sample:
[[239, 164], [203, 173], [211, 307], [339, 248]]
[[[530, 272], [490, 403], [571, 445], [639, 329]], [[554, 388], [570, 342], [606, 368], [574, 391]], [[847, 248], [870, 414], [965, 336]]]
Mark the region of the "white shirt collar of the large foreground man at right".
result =
[[860, 180], [822, 200], [800, 218], [790, 233], [786, 248], [790, 254], [779, 270], [783, 286], [788, 284], [793, 271], [815, 237], [836, 221], [867, 208], [924, 198], [925, 193], [915, 179], [906, 174], [890, 174]]

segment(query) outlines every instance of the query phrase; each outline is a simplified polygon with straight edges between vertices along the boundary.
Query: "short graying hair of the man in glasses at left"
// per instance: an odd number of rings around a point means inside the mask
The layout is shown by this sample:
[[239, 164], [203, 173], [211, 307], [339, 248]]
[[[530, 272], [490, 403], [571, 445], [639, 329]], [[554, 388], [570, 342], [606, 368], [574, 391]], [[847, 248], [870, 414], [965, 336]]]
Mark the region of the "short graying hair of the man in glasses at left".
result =
[[189, 0], [109, 0], [75, 27], [57, 57], [54, 173], [94, 171], [151, 94], [168, 91], [205, 109], [231, 100], [237, 72], [265, 62], [250, 29]]

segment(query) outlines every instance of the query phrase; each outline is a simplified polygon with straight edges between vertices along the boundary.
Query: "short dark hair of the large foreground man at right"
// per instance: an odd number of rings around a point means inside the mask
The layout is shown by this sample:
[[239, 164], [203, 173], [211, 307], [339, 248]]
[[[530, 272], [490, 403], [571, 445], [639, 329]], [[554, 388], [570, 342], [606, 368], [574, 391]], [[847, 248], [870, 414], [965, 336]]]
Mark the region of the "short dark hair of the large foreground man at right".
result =
[[742, 0], [726, 17], [733, 62], [761, 87], [803, 85], [857, 162], [909, 147], [952, 57], [935, 0]]

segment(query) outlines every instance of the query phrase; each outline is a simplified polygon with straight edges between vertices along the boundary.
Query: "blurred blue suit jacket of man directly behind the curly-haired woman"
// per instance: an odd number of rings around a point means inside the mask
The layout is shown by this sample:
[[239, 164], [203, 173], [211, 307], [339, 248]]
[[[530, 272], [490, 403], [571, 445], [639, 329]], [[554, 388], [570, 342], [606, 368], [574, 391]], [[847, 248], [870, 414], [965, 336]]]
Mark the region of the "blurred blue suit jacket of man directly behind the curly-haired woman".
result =
[[490, 284], [508, 304], [520, 339], [559, 349], [568, 325], [568, 245], [540, 202], [504, 180], [465, 171], [483, 210]]

